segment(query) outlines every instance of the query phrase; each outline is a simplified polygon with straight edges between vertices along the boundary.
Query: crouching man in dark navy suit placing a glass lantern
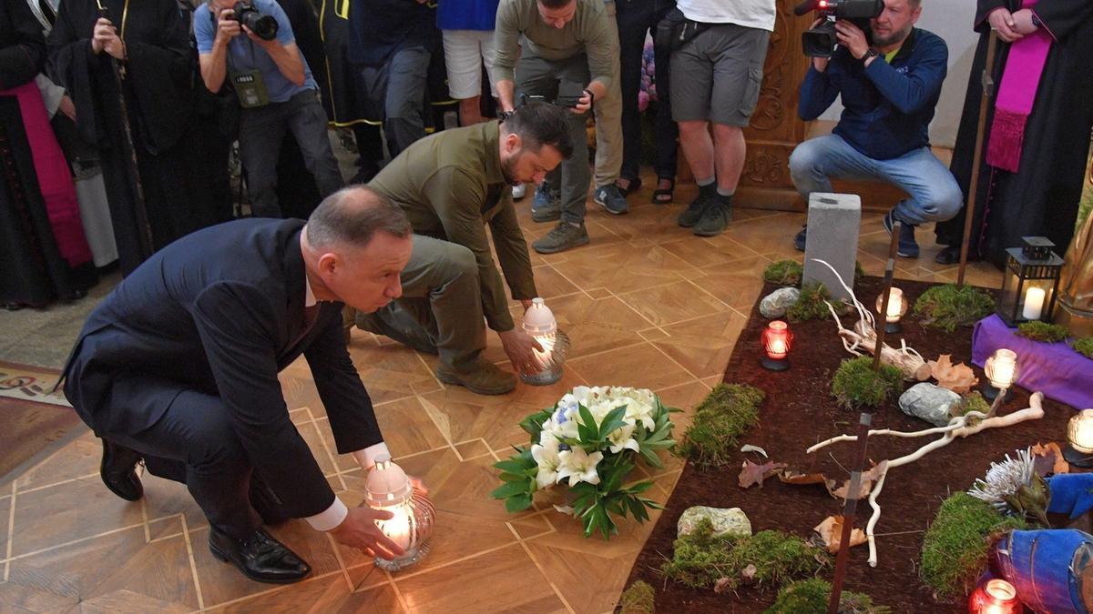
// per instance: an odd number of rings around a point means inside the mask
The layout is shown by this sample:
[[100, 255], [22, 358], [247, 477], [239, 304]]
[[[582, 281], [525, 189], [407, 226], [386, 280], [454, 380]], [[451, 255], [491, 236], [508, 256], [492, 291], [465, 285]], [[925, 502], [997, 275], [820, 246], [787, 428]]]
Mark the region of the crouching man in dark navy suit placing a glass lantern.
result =
[[289, 417], [278, 371], [303, 354], [338, 451], [365, 469], [388, 453], [345, 351], [341, 308], [401, 294], [410, 258], [401, 209], [369, 188], [338, 191], [298, 220], [239, 220], [168, 245], [91, 314], [64, 395], [103, 439], [103, 481], [137, 500], [134, 471], [184, 482], [210, 523], [209, 547], [247, 577], [293, 582], [306, 562], [262, 529], [305, 518], [387, 558], [402, 550], [334, 495]]

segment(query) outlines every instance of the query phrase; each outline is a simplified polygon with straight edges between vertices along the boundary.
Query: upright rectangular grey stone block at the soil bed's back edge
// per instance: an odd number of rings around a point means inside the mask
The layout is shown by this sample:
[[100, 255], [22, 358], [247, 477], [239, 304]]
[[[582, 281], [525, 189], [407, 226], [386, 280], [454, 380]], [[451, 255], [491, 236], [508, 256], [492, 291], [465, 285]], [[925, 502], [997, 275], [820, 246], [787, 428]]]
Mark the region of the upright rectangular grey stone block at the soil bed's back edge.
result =
[[813, 192], [809, 197], [809, 233], [802, 283], [823, 284], [836, 300], [850, 298], [831, 269], [816, 260], [834, 267], [853, 288], [860, 229], [861, 199], [857, 194]]

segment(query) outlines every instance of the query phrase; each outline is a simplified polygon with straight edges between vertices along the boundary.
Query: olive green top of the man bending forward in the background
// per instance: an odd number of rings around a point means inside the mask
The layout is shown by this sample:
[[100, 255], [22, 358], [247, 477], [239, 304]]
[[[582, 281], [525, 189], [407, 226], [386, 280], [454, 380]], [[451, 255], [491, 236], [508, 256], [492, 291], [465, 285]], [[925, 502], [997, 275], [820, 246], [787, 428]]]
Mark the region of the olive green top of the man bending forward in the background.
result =
[[517, 45], [524, 35], [524, 54], [544, 60], [565, 60], [577, 54], [588, 55], [588, 72], [610, 90], [611, 62], [619, 60], [618, 40], [610, 34], [603, 0], [575, 0], [577, 12], [561, 28], [546, 24], [539, 14], [539, 0], [501, 0], [497, 5], [493, 39], [496, 57], [494, 81], [515, 81]]

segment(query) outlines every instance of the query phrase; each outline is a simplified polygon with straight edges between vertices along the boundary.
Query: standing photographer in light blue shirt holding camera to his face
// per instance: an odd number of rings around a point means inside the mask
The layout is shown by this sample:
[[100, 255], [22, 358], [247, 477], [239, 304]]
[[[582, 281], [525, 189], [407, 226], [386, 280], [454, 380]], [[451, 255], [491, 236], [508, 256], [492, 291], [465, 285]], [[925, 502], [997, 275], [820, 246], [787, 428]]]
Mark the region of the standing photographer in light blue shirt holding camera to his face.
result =
[[296, 47], [289, 17], [273, 0], [209, 0], [193, 13], [201, 78], [210, 92], [225, 82], [243, 107], [239, 157], [255, 216], [281, 217], [277, 163], [291, 130], [319, 193], [342, 185], [327, 139], [327, 115], [318, 85]]

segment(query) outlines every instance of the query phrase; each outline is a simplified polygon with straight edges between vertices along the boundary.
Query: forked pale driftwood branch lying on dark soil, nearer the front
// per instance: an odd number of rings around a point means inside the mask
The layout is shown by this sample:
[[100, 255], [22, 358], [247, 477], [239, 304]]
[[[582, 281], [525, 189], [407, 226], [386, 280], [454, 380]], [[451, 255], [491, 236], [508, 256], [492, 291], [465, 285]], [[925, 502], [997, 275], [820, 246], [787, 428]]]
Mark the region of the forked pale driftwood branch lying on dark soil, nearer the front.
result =
[[[996, 415], [987, 417], [987, 414], [984, 414], [983, 412], [968, 412], [962, 416], [954, 417], [949, 422], [948, 426], [927, 428], [910, 433], [892, 430], [889, 428], [870, 430], [870, 436], [888, 435], [892, 437], [922, 437], [938, 433], [943, 433], [944, 435], [909, 454], [888, 461], [888, 467], [884, 469], [884, 473], [881, 474], [881, 476], [877, 480], [877, 484], [873, 485], [872, 491], [869, 493], [869, 506], [873, 509], [873, 513], [869, 517], [869, 522], [866, 524], [866, 539], [869, 542], [869, 566], [877, 567], [877, 539], [873, 534], [873, 528], [877, 527], [877, 521], [880, 520], [881, 517], [881, 506], [877, 504], [877, 497], [880, 496], [881, 489], [884, 488], [884, 479], [888, 476], [888, 472], [892, 470], [892, 468], [913, 463], [933, 450], [948, 446], [957, 437], [964, 438], [968, 435], [975, 435], [976, 433], [988, 428], [1004, 428], [1025, 421], [1039, 420], [1044, 417], [1043, 402], [1044, 393], [1033, 392], [1032, 397], [1029, 398], [1027, 408], [1001, 416]], [[972, 422], [971, 425], [968, 424], [969, 422]], [[838, 437], [832, 437], [831, 439], [826, 439], [812, 446], [807, 450], [807, 452], [812, 453], [824, 446], [838, 441], [857, 441], [857, 439], [858, 437], [856, 435], [839, 435]]]

